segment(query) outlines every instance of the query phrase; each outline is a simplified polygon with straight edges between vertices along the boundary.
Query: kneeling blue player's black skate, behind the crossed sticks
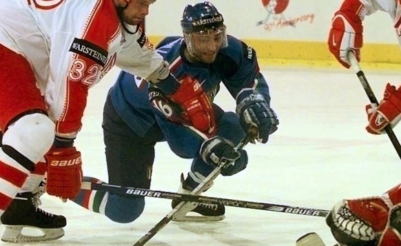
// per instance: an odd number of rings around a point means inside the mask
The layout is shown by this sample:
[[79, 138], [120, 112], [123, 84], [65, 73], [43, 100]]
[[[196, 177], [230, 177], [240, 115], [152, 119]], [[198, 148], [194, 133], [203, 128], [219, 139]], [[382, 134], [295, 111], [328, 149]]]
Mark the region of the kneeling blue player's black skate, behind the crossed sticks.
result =
[[[180, 194], [191, 194], [192, 187], [187, 185], [187, 182], [184, 179], [184, 175], [181, 174], [181, 185], [178, 189], [178, 193]], [[181, 200], [173, 199], [172, 207], [176, 207]], [[192, 213], [194, 215], [187, 215], [188, 213]], [[172, 218], [172, 221], [192, 221], [192, 222], [204, 222], [204, 221], [223, 221], [225, 218], [225, 206], [224, 205], [216, 205], [209, 203], [194, 203], [189, 202], [188, 205], [181, 212], [176, 214]]]

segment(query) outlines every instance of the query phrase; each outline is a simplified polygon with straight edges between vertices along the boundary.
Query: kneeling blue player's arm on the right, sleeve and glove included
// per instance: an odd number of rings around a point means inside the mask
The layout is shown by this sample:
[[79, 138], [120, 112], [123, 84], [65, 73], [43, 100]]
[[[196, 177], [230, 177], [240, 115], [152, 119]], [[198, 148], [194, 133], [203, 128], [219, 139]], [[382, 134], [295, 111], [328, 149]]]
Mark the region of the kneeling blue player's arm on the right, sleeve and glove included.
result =
[[236, 99], [236, 113], [245, 132], [257, 130], [257, 138], [266, 143], [277, 130], [278, 119], [270, 107], [269, 86], [260, 73], [256, 52], [246, 43], [229, 36], [229, 47], [219, 59], [227, 90]]

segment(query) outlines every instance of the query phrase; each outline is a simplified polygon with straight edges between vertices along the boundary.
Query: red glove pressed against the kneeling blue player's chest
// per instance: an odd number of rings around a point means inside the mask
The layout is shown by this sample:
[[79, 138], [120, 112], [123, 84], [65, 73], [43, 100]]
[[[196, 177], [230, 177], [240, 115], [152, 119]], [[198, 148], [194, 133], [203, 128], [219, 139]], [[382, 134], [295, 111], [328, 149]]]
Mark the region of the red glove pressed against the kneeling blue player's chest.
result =
[[189, 121], [197, 130], [209, 135], [216, 134], [213, 107], [196, 79], [185, 76], [176, 93], [169, 98], [183, 107]]

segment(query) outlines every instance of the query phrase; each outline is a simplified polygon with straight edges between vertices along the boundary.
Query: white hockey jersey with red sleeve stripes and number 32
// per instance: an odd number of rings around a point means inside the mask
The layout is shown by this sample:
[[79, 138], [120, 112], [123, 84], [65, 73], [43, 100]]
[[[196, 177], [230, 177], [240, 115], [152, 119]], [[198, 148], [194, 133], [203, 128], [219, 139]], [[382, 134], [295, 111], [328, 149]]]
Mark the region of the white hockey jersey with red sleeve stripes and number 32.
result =
[[88, 88], [114, 64], [146, 78], [163, 63], [141, 28], [121, 28], [112, 0], [1, 1], [0, 43], [28, 59], [61, 134], [79, 131]]

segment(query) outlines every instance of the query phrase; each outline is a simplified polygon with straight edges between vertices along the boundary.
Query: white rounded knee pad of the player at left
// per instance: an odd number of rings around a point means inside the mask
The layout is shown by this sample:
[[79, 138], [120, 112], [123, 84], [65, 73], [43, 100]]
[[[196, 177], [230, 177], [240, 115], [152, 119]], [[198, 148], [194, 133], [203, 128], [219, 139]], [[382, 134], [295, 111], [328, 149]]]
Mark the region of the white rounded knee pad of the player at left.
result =
[[21, 117], [3, 135], [3, 145], [14, 148], [32, 163], [38, 163], [43, 158], [53, 141], [54, 123], [40, 113]]

